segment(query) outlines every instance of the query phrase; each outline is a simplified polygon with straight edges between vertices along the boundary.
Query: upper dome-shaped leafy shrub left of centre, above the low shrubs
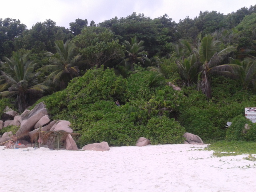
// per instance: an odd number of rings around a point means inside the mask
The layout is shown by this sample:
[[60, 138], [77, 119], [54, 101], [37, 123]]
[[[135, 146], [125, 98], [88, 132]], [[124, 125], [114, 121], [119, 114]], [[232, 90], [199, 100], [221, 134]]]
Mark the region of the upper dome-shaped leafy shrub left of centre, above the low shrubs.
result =
[[126, 79], [116, 76], [114, 69], [88, 70], [84, 76], [74, 78], [68, 85], [68, 109], [82, 108], [84, 104], [99, 100], [121, 100], [126, 92]]

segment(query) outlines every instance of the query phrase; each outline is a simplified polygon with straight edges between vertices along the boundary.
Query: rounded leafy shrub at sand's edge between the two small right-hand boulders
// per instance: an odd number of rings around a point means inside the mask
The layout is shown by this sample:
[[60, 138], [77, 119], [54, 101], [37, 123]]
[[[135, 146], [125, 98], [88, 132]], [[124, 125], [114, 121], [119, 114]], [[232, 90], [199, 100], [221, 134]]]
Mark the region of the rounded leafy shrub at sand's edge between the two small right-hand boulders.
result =
[[148, 120], [146, 128], [146, 136], [151, 144], [179, 144], [185, 140], [183, 134], [186, 130], [174, 118], [152, 117]]

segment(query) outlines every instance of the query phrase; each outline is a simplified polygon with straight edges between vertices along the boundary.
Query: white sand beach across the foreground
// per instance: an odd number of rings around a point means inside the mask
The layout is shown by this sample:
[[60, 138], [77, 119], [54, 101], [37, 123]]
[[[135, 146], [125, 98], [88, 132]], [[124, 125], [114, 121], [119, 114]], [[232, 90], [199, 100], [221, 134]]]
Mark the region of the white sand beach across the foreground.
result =
[[255, 192], [256, 162], [212, 157], [207, 145], [112, 147], [106, 152], [4, 149], [0, 192]]

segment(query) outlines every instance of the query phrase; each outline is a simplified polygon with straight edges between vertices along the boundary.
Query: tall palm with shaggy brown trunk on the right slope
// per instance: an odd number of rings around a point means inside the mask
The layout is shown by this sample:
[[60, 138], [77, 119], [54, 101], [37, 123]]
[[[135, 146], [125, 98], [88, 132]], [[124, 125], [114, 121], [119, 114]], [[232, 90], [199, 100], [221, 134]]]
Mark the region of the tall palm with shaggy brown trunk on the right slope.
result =
[[229, 46], [224, 50], [218, 52], [218, 46], [220, 42], [214, 41], [214, 36], [206, 35], [204, 38], [201, 39], [199, 45], [199, 57], [200, 62], [202, 63], [202, 70], [201, 70], [201, 80], [198, 82], [199, 87], [201, 88], [202, 92], [208, 97], [211, 97], [211, 88], [210, 88], [210, 81], [209, 81], [209, 73], [212, 69], [218, 68], [220, 71], [226, 71], [226, 66], [222, 66], [222, 68], [218, 67], [218, 65], [223, 62], [228, 55], [235, 51], [236, 48], [233, 46]]

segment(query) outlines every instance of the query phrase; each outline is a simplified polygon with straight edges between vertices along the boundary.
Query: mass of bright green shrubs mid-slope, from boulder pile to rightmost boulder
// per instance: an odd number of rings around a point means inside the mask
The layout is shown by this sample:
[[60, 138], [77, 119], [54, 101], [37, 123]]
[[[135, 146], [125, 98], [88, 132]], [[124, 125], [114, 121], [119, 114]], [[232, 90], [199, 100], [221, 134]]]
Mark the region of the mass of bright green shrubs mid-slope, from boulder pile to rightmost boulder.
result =
[[[53, 119], [71, 122], [80, 134], [80, 146], [102, 141], [116, 146], [134, 145], [141, 136], [152, 138], [154, 144], [180, 143], [185, 129], [162, 115], [170, 116], [177, 109], [182, 94], [169, 86], [155, 92], [150, 87], [150, 76], [154, 73], [141, 70], [126, 80], [116, 76], [113, 69], [87, 70], [65, 90], [38, 102], [44, 101]], [[140, 94], [143, 90], [145, 94]], [[116, 106], [115, 100], [120, 100], [121, 106]], [[143, 121], [137, 120], [134, 116], [145, 110], [140, 109], [143, 105], [151, 107], [152, 112], [149, 115], [144, 112]]]

